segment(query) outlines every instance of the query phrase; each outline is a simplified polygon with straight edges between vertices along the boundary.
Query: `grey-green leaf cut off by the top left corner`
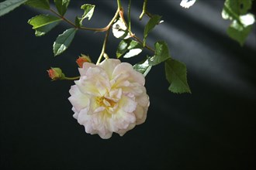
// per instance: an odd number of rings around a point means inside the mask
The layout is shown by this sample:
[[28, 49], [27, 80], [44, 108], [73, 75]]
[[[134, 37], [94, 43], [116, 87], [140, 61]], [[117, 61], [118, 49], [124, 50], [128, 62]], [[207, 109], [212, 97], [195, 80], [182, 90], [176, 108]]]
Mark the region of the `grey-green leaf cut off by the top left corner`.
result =
[[27, 0], [6, 0], [5, 2], [0, 2], [0, 16], [11, 12], [13, 9], [18, 8]]

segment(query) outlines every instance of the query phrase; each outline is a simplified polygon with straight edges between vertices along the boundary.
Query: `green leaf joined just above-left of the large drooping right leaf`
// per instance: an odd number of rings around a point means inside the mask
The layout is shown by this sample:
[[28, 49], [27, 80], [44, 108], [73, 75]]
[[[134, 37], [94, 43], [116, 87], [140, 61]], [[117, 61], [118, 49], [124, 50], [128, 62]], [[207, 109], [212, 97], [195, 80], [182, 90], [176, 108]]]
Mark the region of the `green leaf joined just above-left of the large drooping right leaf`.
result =
[[169, 55], [168, 45], [165, 42], [155, 42], [154, 48], [154, 56], [148, 58], [148, 63], [150, 64], [150, 66], [155, 66], [159, 63], [164, 62], [166, 59], [171, 58], [171, 56]]

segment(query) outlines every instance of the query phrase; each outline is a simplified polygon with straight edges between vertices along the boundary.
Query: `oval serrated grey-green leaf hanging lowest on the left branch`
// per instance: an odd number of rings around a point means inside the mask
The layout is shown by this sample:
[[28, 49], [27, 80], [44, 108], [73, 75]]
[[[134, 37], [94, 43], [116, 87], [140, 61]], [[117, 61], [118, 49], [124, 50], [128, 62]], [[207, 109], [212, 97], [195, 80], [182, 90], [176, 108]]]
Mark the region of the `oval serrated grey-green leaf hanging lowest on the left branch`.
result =
[[70, 46], [77, 29], [67, 29], [54, 42], [54, 56], [63, 53]]

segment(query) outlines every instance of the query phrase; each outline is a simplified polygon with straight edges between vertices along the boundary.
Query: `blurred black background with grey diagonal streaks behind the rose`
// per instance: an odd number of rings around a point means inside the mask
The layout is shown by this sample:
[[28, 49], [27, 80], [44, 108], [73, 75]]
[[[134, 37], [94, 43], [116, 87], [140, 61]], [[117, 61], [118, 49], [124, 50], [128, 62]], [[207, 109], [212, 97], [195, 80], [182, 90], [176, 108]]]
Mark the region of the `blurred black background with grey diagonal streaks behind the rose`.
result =
[[[106, 26], [116, 11], [116, 1], [71, 1], [67, 18], [81, 15], [83, 3], [97, 5], [86, 26]], [[1, 169], [255, 169], [255, 26], [240, 47], [227, 36], [223, 1], [198, 1], [189, 9], [179, 3], [149, 0], [149, 11], [164, 23], [148, 42], [168, 42], [171, 56], [188, 67], [192, 94], [169, 93], [164, 66], [155, 66], [147, 76], [147, 121], [108, 140], [85, 134], [67, 100], [74, 83], [51, 82], [46, 71], [59, 66], [77, 76], [75, 59], [85, 53], [96, 62], [104, 33], [79, 31], [67, 52], [54, 57], [54, 40], [70, 26], [36, 37], [26, 22], [40, 11], [22, 6], [1, 17]], [[132, 5], [132, 29], [142, 37], [143, 2]], [[117, 44], [111, 35], [109, 56]]]

